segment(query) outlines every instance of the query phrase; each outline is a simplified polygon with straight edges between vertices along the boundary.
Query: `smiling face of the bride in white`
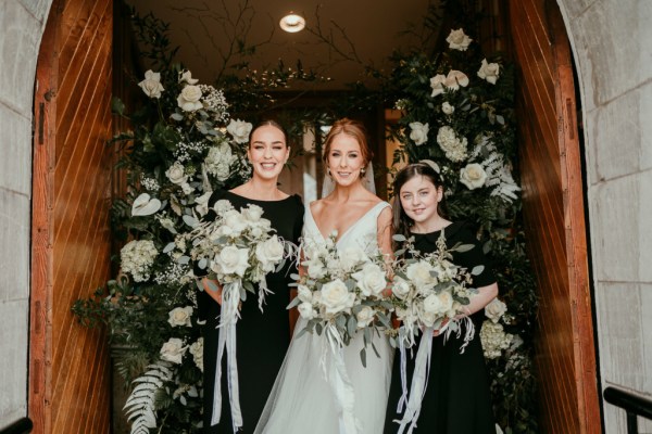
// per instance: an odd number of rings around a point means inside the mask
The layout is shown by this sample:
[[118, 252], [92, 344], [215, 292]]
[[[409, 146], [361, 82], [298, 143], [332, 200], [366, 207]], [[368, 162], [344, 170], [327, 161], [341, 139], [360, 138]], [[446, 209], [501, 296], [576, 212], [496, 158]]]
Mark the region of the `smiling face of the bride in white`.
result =
[[346, 133], [335, 136], [330, 141], [326, 165], [337, 184], [348, 187], [358, 181], [360, 169], [366, 165], [358, 139]]

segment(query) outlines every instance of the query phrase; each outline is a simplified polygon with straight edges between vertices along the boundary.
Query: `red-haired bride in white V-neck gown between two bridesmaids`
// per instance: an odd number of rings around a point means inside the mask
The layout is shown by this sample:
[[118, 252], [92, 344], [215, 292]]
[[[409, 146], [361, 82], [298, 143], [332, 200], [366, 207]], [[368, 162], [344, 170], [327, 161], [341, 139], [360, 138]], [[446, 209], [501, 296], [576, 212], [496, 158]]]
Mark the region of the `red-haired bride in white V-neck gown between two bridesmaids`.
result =
[[[306, 207], [304, 240], [323, 243], [336, 231], [339, 251], [356, 246], [367, 253], [377, 247], [391, 253], [391, 208], [363, 183], [372, 178], [365, 176], [371, 158], [362, 124], [343, 118], [333, 125], [324, 143], [333, 192]], [[380, 357], [367, 350], [365, 368], [360, 358], [362, 333], [356, 334], [341, 349], [346, 366], [341, 378], [324, 335], [297, 337], [304, 326], [299, 319], [255, 433], [381, 433], [393, 355], [387, 337], [374, 337]]]

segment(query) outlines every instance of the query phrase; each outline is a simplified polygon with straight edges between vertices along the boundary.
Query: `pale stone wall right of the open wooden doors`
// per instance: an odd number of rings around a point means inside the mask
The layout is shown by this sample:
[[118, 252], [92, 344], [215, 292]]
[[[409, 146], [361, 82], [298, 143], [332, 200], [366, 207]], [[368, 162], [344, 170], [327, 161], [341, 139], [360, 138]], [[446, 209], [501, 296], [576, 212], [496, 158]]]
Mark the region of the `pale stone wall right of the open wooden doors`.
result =
[[[652, 394], [652, 2], [557, 1], [581, 90], [602, 387]], [[624, 411], [604, 416], [626, 432]]]

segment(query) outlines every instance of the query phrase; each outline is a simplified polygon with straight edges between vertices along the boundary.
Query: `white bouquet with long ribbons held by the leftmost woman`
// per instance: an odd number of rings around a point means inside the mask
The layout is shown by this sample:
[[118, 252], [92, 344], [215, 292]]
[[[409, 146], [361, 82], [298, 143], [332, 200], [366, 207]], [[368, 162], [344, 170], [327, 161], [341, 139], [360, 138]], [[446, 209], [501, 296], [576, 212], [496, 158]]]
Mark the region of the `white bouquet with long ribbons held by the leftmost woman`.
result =
[[[236, 322], [240, 317], [238, 306], [247, 299], [248, 292], [255, 293], [254, 283], [258, 283], [258, 304], [263, 310], [265, 295], [271, 293], [265, 275], [283, 267], [291, 253], [291, 244], [273, 233], [272, 224], [262, 217], [263, 209], [260, 206], [249, 204], [237, 210], [229, 201], [221, 200], [213, 210], [217, 217], [212, 221], [198, 222], [187, 216], [193, 230], [185, 237], [192, 244], [190, 257], [200, 269], [206, 271], [205, 282], [210, 291], [218, 290], [214, 281], [222, 285], [217, 371], [211, 423], [216, 424], [221, 418], [222, 356], [226, 347], [231, 418], [234, 430], [237, 430], [242, 426], [236, 362]], [[203, 289], [199, 282], [198, 285]]]

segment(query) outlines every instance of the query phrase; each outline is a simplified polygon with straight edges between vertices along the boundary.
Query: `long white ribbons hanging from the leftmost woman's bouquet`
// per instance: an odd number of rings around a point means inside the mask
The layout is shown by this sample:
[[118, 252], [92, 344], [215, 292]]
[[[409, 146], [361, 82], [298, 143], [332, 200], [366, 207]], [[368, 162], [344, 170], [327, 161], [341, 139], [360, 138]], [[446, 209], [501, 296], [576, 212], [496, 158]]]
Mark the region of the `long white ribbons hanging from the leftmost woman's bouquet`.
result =
[[217, 369], [215, 371], [215, 385], [213, 395], [213, 414], [211, 426], [216, 425], [222, 417], [222, 356], [226, 347], [226, 374], [228, 383], [228, 397], [231, 409], [234, 433], [242, 426], [242, 412], [240, 411], [240, 387], [238, 384], [238, 363], [236, 361], [236, 323], [238, 322], [238, 305], [240, 304], [240, 289], [242, 282], [236, 280], [225, 283], [222, 289], [222, 314], [220, 316], [217, 340]]

